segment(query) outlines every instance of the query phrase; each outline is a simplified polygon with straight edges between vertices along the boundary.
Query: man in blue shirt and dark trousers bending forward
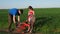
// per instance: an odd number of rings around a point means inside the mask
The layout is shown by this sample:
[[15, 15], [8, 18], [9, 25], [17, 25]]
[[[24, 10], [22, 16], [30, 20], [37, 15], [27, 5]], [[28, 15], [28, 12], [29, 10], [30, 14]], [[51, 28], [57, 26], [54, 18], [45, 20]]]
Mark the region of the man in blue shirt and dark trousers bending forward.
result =
[[[15, 28], [17, 27], [17, 23], [20, 22], [20, 14], [21, 11], [16, 8], [12, 8], [9, 10], [9, 14], [8, 14], [9, 31], [11, 30], [12, 22], [14, 23]], [[17, 19], [16, 19], [16, 15], [17, 15]]]

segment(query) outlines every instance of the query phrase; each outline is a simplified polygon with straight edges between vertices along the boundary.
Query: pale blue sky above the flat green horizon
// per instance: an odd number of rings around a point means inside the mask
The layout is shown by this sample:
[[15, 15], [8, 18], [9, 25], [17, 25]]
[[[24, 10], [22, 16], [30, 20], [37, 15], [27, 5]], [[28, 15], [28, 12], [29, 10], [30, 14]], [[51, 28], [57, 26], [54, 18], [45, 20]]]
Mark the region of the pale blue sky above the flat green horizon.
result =
[[10, 8], [60, 8], [60, 0], [0, 0], [0, 9]]

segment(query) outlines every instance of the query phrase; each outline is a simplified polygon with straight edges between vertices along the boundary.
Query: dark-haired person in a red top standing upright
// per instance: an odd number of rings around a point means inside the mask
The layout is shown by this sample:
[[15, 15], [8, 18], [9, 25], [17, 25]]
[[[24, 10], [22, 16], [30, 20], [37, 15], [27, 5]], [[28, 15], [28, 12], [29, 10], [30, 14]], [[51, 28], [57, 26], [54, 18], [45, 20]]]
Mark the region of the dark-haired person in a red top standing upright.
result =
[[29, 9], [29, 12], [28, 12], [28, 22], [30, 24], [30, 32], [32, 32], [33, 24], [34, 24], [34, 21], [35, 21], [35, 17], [34, 17], [35, 12], [34, 12], [32, 6], [29, 6], [28, 9]]

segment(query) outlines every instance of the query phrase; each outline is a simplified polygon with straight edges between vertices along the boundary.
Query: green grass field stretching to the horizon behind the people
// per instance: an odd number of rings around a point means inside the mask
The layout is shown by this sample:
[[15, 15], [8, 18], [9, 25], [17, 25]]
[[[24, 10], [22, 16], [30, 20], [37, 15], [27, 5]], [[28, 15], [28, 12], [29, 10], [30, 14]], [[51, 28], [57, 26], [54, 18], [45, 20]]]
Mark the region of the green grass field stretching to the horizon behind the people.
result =
[[[41, 32], [42, 34], [60, 34], [60, 8], [38, 8], [34, 10], [36, 22], [33, 32]], [[20, 17], [21, 22], [27, 19], [27, 12], [28, 10], [24, 9], [24, 13]], [[7, 28], [8, 10], [0, 9], [0, 29]]]

